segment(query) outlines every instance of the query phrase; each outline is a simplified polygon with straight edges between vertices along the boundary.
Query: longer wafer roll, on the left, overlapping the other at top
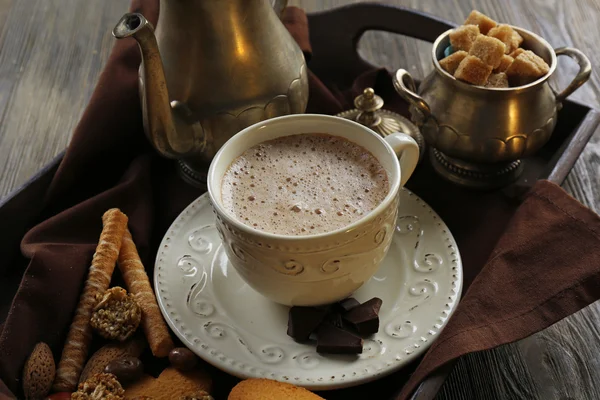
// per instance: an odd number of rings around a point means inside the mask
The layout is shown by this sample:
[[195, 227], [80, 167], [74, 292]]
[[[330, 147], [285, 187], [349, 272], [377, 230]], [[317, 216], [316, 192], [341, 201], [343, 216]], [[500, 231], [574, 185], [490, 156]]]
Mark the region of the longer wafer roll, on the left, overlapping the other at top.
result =
[[110, 285], [115, 269], [123, 234], [127, 229], [127, 216], [112, 208], [102, 216], [103, 228], [98, 240], [92, 265], [69, 327], [52, 389], [56, 392], [77, 390], [79, 375], [87, 360], [92, 341], [90, 317], [96, 305], [96, 294], [104, 293]]

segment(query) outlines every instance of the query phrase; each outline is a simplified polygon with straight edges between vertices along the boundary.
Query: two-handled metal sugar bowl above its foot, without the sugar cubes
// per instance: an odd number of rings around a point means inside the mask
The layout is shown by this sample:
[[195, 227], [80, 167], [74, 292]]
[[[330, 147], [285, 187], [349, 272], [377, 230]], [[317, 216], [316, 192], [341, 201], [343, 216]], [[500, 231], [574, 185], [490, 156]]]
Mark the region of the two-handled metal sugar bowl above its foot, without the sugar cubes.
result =
[[[553, 50], [541, 37], [513, 27], [524, 38], [523, 47], [533, 50], [550, 66], [542, 78], [514, 88], [485, 88], [461, 82], [444, 71], [438, 60], [449, 46], [449, 33], [433, 45], [434, 71], [415, 93], [405, 70], [398, 70], [394, 86], [411, 103], [413, 120], [427, 143], [446, 156], [491, 164], [510, 162], [533, 154], [550, 138], [561, 102], [589, 78], [590, 62], [579, 50]], [[560, 94], [548, 84], [556, 70], [557, 55], [573, 57], [580, 71]], [[410, 87], [412, 86], [412, 87]]]

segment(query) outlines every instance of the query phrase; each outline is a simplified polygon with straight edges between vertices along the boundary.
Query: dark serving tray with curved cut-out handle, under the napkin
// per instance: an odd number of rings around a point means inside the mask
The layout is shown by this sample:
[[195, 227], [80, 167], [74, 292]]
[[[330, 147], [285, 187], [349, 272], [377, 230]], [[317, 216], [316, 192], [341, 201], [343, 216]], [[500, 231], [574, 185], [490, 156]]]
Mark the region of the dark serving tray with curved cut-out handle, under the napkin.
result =
[[[439, 34], [454, 26], [413, 10], [378, 4], [355, 4], [310, 14], [309, 23], [313, 47], [310, 68], [317, 76], [332, 76], [334, 83], [339, 87], [349, 86], [357, 75], [374, 68], [356, 51], [358, 40], [364, 32], [387, 31], [433, 42]], [[331, 70], [332, 66], [335, 66], [335, 71]], [[521, 196], [539, 179], [561, 184], [590, 137], [599, 130], [599, 124], [598, 111], [583, 104], [566, 101], [559, 113], [552, 139], [535, 156], [524, 160], [525, 171], [514, 184], [486, 194], [472, 192], [443, 181], [433, 172], [431, 166], [425, 163], [411, 178], [409, 188], [423, 197], [448, 223], [459, 241], [465, 264], [479, 265], [481, 268], [504, 228], [502, 224], [495, 224], [495, 227], [490, 228], [494, 225], [488, 223], [490, 213], [495, 213], [499, 220], [507, 220], [518, 207]], [[19, 244], [25, 232], [43, 218], [40, 213], [44, 193], [63, 155], [64, 153], [59, 154], [23, 186], [0, 202], [0, 221], [3, 221], [5, 227], [10, 227], [0, 230], [0, 259], [3, 260], [0, 279], [12, 280], [14, 291], [20, 282], [18, 275], [23, 271], [9, 271], [9, 266], [21, 257]], [[431, 190], [432, 187], [437, 189]], [[463, 202], [467, 204], [467, 208], [472, 205], [470, 214], [456, 215], [450, 207], [452, 202], [448, 202], [448, 199]], [[488, 218], [484, 223], [481, 222], [481, 215]], [[478, 246], [477, 251], [471, 251], [469, 246], [460, 246], [461, 239], [466, 240], [468, 233], [474, 229], [478, 230], [479, 236], [485, 240], [485, 245]], [[465, 279], [471, 281], [478, 270], [466, 272]], [[14, 291], [0, 293], [0, 308], [10, 306]], [[5, 315], [4, 311], [6, 310], [0, 309], [0, 315]], [[433, 399], [452, 367], [453, 365], [447, 365], [430, 376], [420, 385], [413, 398]], [[380, 393], [382, 397], [377, 395], [378, 398], [390, 397], [398, 393], [400, 386], [414, 368], [416, 364], [405, 368], [400, 373], [402, 377], [396, 373], [363, 387], [350, 391], [328, 392], [324, 396], [335, 399], [371, 398], [373, 393]], [[225, 385], [228, 386], [229, 383]]]

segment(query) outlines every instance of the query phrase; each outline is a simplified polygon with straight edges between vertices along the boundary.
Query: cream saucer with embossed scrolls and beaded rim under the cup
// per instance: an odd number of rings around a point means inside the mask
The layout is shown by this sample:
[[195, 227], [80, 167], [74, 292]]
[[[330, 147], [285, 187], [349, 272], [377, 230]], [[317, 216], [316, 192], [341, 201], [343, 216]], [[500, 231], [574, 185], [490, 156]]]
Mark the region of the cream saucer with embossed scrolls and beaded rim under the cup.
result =
[[229, 264], [207, 195], [163, 238], [154, 269], [158, 303], [175, 334], [198, 356], [240, 378], [269, 378], [313, 390], [387, 375], [422, 355], [456, 308], [462, 263], [440, 217], [403, 189], [398, 224], [381, 267], [354, 295], [383, 299], [379, 333], [359, 356], [327, 356], [287, 336], [288, 307], [242, 281]]

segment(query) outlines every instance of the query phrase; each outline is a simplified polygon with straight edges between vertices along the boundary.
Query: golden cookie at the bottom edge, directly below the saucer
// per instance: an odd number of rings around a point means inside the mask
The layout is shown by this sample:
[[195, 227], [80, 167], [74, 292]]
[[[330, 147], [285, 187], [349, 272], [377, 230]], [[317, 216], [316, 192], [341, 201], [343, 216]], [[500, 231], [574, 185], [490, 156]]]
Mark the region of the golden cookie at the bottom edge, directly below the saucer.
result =
[[324, 400], [299, 386], [270, 379], [247, 379], [231, 390], [228, 400]]

